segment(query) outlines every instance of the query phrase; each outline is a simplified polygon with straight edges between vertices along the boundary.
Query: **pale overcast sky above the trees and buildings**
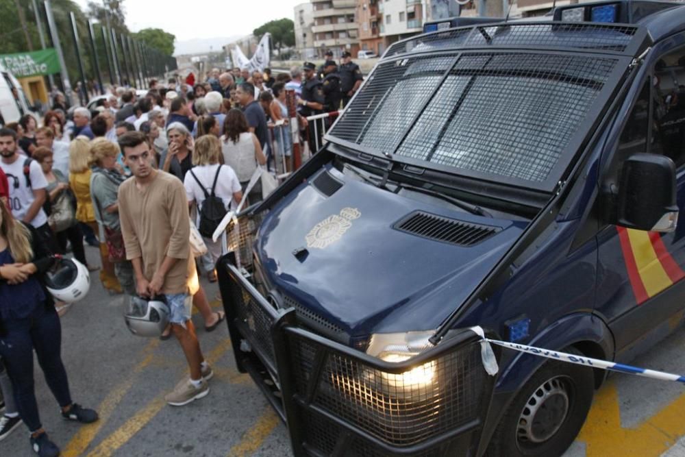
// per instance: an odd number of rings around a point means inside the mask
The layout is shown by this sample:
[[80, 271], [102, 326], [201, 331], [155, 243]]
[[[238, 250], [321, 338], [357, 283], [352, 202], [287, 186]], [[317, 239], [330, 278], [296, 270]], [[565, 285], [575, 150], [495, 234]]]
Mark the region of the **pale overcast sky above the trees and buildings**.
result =
[[[102, 3], [102, 0], [95, 0]], [[178, 41], [216, 36], [243, 36], [273, 19], [295, 16], [308, 0], [124, 0], [126, 25], [132, 32], [164, 29]], [[75, 0], [86, 10], [87, 0]]]

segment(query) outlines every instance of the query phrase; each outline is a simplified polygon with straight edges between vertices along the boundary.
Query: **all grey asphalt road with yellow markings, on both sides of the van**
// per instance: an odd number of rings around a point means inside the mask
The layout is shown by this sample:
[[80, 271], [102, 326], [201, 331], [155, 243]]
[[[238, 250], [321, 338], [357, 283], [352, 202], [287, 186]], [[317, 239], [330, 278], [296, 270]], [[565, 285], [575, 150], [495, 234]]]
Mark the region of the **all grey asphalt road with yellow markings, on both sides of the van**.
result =
[[[97, 264], [97, 251], [86, 248]], [[216, 284], [203, 285], [210, 298]], [[75, 456], [289, 456], [286, 428], [262, 395], [235, 369], [225, 325], [212, 333], [193, 317], [203, 352], [216, 375], [210, 394], [173, 408], [164, 394], [187, 375], [173, 341], [129, 334], [121, 295], [97, 280], [88, 297], [62, 317], [62, 357], [75, 402], [97, 408], [91, 425], [63, 421], [36, 364], [42, 423], [62, 455]], [[212, 306], [219, 308], [219, 301]], [[678, 330], [634, 361], [640, 367], [685, 373], [685, 331]], [[590, 418], [564, 457], [685, 456], [685, 391], [682, 384], [612, 375], [595, 395]], [[26, 428], [0, 442], [0, 456], [34, 456]]]

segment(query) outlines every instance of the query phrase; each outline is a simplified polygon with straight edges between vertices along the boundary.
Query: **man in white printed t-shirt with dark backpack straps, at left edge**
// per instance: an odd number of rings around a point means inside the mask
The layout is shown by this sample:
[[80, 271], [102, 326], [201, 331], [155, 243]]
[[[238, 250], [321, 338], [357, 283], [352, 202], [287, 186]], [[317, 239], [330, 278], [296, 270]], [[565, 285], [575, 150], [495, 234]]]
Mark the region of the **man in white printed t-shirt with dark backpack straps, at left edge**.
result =
[[33, 225], [43, 243], [53, 250], [54, 238], [47, 223], [47, 215], [42, 210], [47, 198], [47, 180], [40, 164], [19, 155], [16, 132], [8, 128], [0, 129], [0, 156], [0, 168], [7, 175], [10, 184], [12, 216]]

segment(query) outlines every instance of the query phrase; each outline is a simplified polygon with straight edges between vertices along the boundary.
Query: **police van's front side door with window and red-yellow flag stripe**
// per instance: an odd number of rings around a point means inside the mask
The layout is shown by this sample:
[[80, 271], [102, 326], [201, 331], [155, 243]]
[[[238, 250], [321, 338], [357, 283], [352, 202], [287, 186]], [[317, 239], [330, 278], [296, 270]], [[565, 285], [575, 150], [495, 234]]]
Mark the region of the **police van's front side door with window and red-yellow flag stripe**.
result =
[[[596, 309], [609, 321], [616, 351], [639, 350], [628, 346], [685, 307], [685, 47], [674, 49], [674, 43], [653, 49], [616, 151], [604, 155], [610, 163], [602, 166], [602, 186], [617, 182], [623, 160], [633, 153], [669, 156], [677, 167], [680, 207], [675, 232], [606, 225], [598, 234]], [[666, 334], [669, 327], [660, 330]]]

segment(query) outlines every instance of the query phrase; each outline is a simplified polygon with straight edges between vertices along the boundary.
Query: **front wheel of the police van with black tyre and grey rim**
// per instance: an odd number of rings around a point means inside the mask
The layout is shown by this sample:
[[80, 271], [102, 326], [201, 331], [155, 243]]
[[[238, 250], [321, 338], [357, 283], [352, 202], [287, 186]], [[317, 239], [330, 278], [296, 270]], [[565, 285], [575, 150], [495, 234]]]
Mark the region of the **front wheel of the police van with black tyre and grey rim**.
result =
[[[572, 347], [563, 351], [582, 356]], [[593, 369], [547, 360], [516, 394], [499, 421], [486, 454], [561, 456], [580, 432], [594, 393]]]

